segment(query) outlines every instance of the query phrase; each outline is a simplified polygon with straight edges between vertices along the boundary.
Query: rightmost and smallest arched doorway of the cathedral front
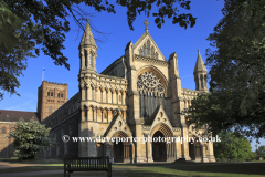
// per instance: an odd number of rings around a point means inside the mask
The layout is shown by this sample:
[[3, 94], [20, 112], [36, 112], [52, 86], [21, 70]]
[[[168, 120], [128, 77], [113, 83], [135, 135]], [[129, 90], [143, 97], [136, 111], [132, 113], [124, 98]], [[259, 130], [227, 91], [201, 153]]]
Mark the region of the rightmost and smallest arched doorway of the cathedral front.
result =
[[193, 140], [189, 142], [189, 154], [190, 154], [190, 158], [191, 160], [200, 160], [201, 159], [201, 145], [199, 142], [198, 137], [192, 137], [194, 138]]

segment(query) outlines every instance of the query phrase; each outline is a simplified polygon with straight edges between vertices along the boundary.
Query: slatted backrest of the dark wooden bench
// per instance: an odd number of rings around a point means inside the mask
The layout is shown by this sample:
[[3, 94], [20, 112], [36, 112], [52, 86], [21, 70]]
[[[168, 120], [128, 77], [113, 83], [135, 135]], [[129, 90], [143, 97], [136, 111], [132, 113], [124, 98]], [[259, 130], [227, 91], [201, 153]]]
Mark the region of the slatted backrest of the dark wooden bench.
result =
[[81, 157], [65, 158], [64, 168], [66, 169], [108, 169], [112, 168], [109, 157]]

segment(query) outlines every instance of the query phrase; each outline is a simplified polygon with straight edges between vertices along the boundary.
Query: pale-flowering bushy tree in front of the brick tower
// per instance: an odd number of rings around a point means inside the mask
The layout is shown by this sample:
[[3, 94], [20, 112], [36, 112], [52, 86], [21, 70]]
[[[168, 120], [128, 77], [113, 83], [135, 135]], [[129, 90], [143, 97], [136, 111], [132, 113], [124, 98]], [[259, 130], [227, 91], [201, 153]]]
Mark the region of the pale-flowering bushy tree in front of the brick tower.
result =
[[46, 147], [53, 145], [53, 140], [49, 137], [51, 128], [45, 128], [38, 121], [31, 119], [24, 122], [22, 118], [17, 123], [17, 127], [10, 133], [10, 137], [14, 139], [14, 155], [22, 159], [34, 158]]

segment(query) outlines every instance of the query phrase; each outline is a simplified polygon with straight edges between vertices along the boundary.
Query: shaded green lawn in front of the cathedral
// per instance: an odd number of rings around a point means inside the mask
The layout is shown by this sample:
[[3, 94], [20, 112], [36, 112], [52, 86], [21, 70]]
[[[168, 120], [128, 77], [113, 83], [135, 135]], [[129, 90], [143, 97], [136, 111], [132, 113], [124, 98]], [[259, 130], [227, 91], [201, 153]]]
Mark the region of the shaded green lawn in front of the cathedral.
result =
[[[2, 159], [0, 159], [2, 160]], [[3, 159], [4, 160], [4, 159]], [[29, 160], [29, 164], [35, 166], [14, 167], [0, 169], [0, 174], [4, 173], [22, 173], [22, 171], [41, 171], [41, 170], [63, 170], [62, 160], [41, 159]], [[18, 159], [6, 160], [9, 163], [18, 163]], [[38, 163], [36, 163], [38, 162]], [[53, 162], [53, 163], [52, 163]], [[55, 162], [55, 163], [54, 163]], [[61, 163], [60, 163], [61, 162]], [[23, 164], [24, 160], [23, 160]], [[153, 164], [115, 164], [113, 165], [113, 176], [119, 177], [258, 177], [265, 175], [265, 162], [258, 163], [153, 163]], [[139, 168], [138, 168], [139, 167]], [[71, 176], [106, 176], [106, 171], [87, 171], [73, 173]], [[1, 175], [0, 175], [1, 176]], [[60, 174], [36, 175], [35, 177], [59, 177]], [[32, 176], [34, 177], [34, 176]]]

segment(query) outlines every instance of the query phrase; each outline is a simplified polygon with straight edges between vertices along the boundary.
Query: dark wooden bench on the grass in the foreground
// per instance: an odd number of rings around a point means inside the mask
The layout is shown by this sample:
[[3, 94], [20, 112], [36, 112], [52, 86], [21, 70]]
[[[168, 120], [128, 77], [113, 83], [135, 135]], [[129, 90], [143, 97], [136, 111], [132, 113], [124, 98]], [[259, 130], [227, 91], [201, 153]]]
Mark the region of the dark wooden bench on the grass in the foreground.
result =
[[[106, 170], [107, 176], [112, 177], [112, 163], [109, 157], [81, 157], [64, 159], [64, 177], [73, 171], [98, 171]], [[68, 173], [67, 173], [68, 171]]]

